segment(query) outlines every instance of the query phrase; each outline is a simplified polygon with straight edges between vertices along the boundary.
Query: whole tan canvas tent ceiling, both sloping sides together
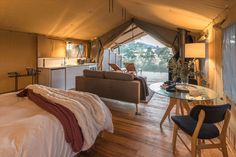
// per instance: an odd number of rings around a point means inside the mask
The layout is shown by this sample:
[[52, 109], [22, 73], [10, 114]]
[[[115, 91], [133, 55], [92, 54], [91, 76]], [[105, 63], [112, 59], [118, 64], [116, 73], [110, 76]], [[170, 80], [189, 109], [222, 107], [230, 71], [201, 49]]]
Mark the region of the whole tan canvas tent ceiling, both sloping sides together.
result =
[[92, 39], [136, 17], [157, 25], [200, 31], [234, 0], [1, 0], [0, 28], [63, 38]]

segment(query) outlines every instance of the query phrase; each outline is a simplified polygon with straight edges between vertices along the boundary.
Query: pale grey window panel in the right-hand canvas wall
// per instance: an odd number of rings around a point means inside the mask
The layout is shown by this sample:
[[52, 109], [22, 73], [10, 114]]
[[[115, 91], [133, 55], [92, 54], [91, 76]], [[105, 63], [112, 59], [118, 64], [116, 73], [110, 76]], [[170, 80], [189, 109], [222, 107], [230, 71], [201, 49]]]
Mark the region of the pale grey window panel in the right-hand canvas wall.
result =
[[236, 102], [236, 24], [227, 27], [223, 36], [224, 92]]

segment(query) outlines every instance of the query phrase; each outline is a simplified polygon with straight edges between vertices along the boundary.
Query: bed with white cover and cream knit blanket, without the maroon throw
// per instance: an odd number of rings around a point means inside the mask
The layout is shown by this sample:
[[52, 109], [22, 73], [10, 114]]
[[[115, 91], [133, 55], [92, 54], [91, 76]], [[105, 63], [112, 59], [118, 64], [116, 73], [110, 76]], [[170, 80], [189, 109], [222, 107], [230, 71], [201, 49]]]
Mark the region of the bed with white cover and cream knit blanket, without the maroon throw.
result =
[[76, 136], [83, 141], [81, 149], [74, 151], [64, 125], [55, 115], [29, 96], [8, 93], [0, 95], [0, 156], [74, 157], [91, 148], [101, 131], [113, 132], [111, 113], [94, 94], [41, 85], [29, 85], [26, 89], [73, 113], [80, 127]]

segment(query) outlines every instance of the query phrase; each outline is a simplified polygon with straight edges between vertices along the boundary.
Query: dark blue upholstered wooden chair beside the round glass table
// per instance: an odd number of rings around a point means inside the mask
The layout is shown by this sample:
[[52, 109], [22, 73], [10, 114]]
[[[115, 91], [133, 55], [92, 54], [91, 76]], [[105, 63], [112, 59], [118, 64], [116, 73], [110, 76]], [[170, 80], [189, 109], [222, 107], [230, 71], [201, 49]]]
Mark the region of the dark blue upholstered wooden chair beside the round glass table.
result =
[[[192, 157], [196, 157], [197, 153], [201, 156], [201, 149], [221, 148], [224, 157], [228, 156], [226, 148], [226, 132], [230, 120], [229, 104], [218, 106], [197, 105], [192, 108], [189, 115], [172, 116], [175, 123], [173, 131], [173, 152], [176, 149], [176, 139], [179, 137], [182, 142], [184, 140], [178, 135], [178, 130], [181, 129], [191, 139]], [[224, 121], [221, 131], [217, 124]], [[218, 138], [218, 143], [206, 144], [204, 140]], [[212, 141], [211, 141], [212, 142]], [[184, 143], [185, 146], [187, 146]]]

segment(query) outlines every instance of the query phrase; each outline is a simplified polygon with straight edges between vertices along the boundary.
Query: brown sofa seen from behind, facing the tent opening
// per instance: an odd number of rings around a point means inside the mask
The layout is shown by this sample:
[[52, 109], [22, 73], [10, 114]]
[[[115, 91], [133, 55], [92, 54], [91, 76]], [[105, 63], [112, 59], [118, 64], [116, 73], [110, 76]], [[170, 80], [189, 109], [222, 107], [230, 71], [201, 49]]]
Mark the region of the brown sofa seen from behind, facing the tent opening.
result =
[[76, 90], [97, 94], [100, 97], [140, 103], [140, 82], [134, 76], [122, 72], [84, 70], [84, 76], [76, 77]]

